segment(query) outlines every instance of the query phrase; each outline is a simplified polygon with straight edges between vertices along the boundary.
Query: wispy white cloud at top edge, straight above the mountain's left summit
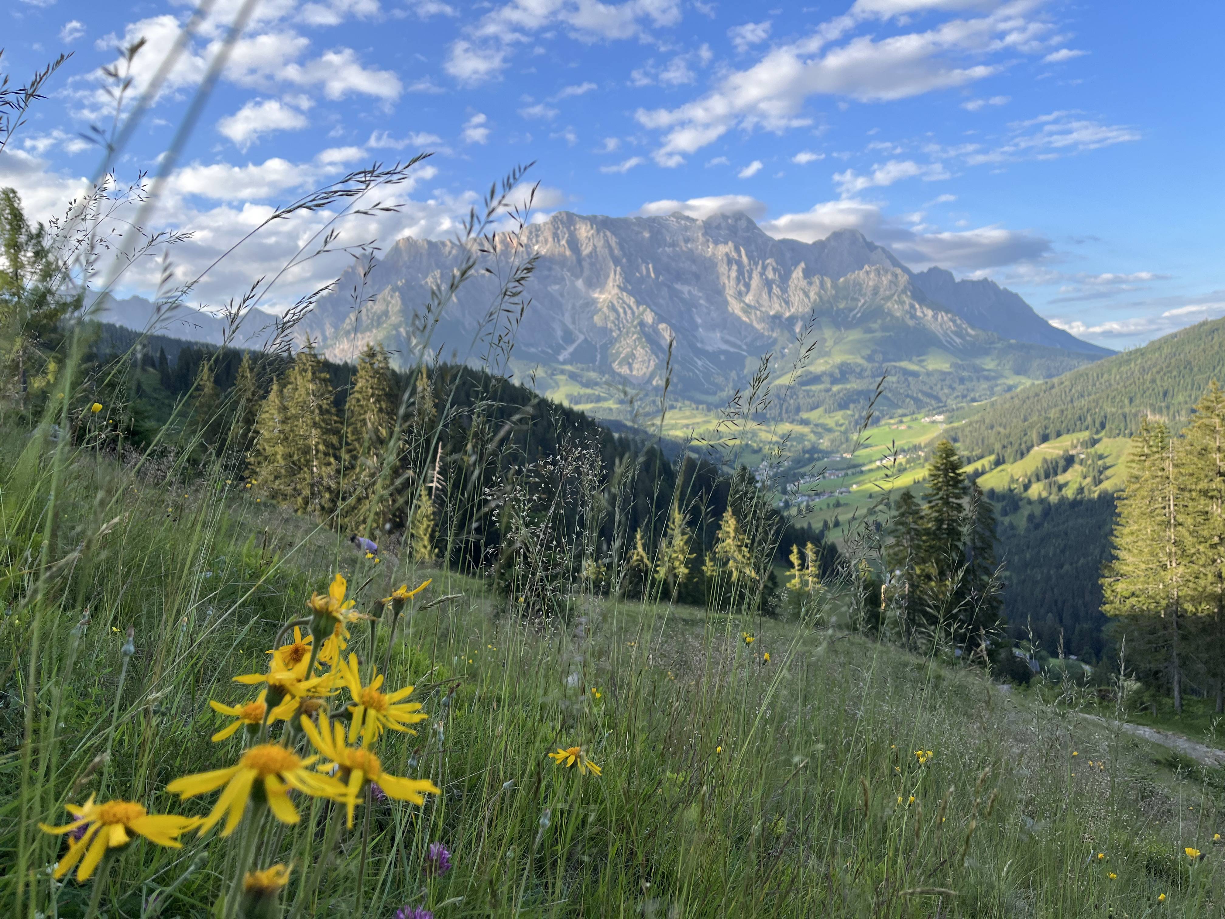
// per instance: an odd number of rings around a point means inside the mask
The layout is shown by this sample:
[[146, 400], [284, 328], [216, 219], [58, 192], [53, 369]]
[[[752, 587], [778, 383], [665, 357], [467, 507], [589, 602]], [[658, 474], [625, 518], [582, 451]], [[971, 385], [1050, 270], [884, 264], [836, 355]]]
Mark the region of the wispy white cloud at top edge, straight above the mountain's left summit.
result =
[[587, 44], [646, 39], [650, 27], [680, 18], [681, 0], [511, 0], [469, 26], [451, 44], [443, 67], [462, 83], [480, 83], [501, 74], [514, 48], [538, 33], [561, 31]]

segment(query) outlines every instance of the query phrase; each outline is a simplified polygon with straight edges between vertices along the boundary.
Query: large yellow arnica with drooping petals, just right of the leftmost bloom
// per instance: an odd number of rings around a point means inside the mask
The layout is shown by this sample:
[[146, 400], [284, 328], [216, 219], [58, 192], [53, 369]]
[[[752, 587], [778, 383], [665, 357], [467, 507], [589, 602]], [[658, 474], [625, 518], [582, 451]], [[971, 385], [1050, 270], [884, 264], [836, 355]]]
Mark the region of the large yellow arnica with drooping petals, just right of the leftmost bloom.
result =
[[176, 778], [165, 787], [165, 790], [181, 798], [194, 798], [225, 787], [212, 812], [201, 822], [201, 833], [212, 830], [227, 814], [229, 816], [222, 836], [233, 833], [243, 820], [243, 811], [256, 783], [260, 783], [268, 809], [277, 820], [282, 823], [296, 823], [298, 809], [289, 800], [290, 788], [316, 798], [339, 800], [344, 796], [344, 785], [334, 778], [320, 776], [307, 768], [317, 758], [307, 756], [304, 760], [279, 744], [260, 744], [244, 752], [236, 766]]

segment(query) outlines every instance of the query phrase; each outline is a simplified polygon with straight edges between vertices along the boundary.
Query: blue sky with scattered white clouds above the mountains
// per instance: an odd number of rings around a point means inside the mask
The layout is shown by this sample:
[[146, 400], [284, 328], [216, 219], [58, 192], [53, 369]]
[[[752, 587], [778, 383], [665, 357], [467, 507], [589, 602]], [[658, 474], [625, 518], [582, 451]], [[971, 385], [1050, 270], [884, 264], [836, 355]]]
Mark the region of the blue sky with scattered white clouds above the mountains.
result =
[[[157, 168], [241, 0], [218, 0], [119, 163]], [[100, 69], [146, 39], [147, 85], [194, 4], [7, 0], [0, 69], [72, 59], [7, 151], [0, 184], [47, 218], [83, 187], [113, 116]], [[121, 11], [121, 15], [119, 15]], [[475, 195], [535, 161], [556, 210], [740, 210], [768, 233], [851, 227], [913, 267], [991, 277], [1122, 348], [1225, 315], [1225, 5], [1042, 0], [262, 0], [191, 135], [159, 227], [192, 276], [268, 213], [345, 170], [434, 151], [394, 214], [347, 239], [454, 232]], [[219, 303], [317, 227], [274, 224], [196, 293]], [[283, 305], [342, 267], [287, 277]], [[149, 259], [126, 289], [156, 284]]]

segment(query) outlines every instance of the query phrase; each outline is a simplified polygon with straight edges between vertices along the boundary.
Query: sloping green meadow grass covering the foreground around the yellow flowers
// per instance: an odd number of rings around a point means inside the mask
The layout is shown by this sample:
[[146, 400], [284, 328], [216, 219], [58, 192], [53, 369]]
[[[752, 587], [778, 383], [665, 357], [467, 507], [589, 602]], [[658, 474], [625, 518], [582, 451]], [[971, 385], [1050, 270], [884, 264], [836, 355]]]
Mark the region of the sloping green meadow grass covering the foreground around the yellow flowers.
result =
[[[74, 450], [0, 441], [5, 915], [233, 915], [236, 879], [276, 863], [292, 876], [268, 914], [294, 917], [1220, 914], [1218, 785], [1171, 785], [980, 671], [608, 597], [524, 619], [481, 578], [364, 559], [222, 468], [184, 482]], [[382, 768], [441, 794], [370, 795], [353, 830], [338, 801], [298, 795], [295, 826], [252, 805], [233, 837], [136, 839], [89, 882], [53, 881], [65, 843], [38, 823], [67, 803], [208, 811], [165, 790], [240, 752], [241, 732], [209, 741], [227, 719], [208, 701], [254, 696], [232, 678], [266, 669], [337, 571], [376, 618], [348, 651], [429, 713], [380, 739]], [[425, 578], [390, 647], [379, 598]], [[601, 773], [548, 757], [571, 746]]]

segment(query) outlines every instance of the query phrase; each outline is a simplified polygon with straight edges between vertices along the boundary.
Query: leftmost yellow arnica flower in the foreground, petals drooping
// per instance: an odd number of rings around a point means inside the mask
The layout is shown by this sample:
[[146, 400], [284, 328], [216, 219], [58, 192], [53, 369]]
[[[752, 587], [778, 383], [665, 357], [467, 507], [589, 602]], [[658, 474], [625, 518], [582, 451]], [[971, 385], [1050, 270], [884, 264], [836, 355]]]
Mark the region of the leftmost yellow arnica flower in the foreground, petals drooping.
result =
[[[55, 866], [55, 877], [62, 877], [80, 861], [81, 868], [77, 869], [78, 881], [89, 880], [89, 875], [93, 874], [98, 863], [102, 861], [102, 857], [107, 854], [107, 849], [118, 849], [131, 842], [131, 837], [127, 834], [129, 830], [143, 836], [146, 839], [156, 842], [158, 845], [179, 849], [183, 848], [183, 843], [175, 837], [191, 830], [200, 822], [197, 817], [180, 817], [174, 814], [148, 814], [143, 805], [136, 804], [136, 801], [94, 804], [93, 795], [89, 795], [89, 800], [80, 806], [75, 804], [66, 806], [69, 814], [76, 817], [71, 823], [65, 823], [64, 826], [39, 823], [38, 826], [43, 832], [55, 833], [56, 836], [71, 833], [81, 827], [86, 828], [85, 833], [69, 845], [67, 853], [60, 859], [59, 865]], [[81, 860], [82, 855], [85, 855], [83, 861]]]

